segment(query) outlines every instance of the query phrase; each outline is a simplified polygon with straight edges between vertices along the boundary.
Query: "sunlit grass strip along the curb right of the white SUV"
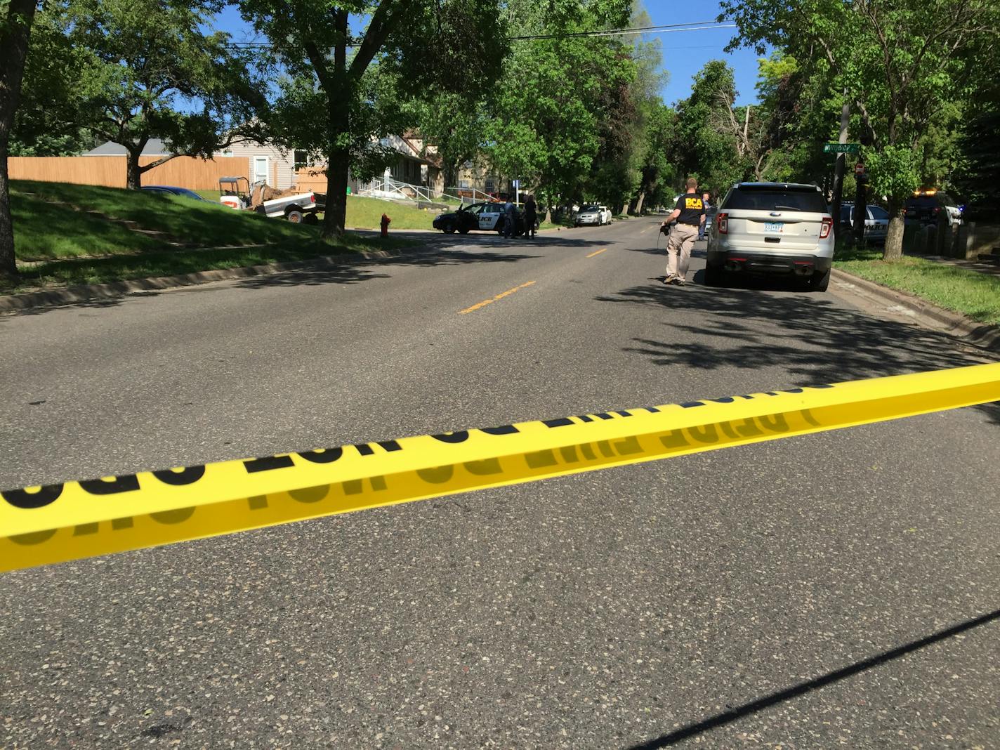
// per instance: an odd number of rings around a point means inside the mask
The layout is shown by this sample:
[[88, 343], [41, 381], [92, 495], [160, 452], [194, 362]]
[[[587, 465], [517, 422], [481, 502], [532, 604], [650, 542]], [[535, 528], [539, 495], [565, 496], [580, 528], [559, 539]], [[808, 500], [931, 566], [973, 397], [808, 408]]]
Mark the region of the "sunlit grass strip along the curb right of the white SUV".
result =
[[886, 263], [881, 250], [871, 248], [838, 251], [834, 266], [981, 323], [1000, 324], [1000, 278], [996, 276], [913, 256]]

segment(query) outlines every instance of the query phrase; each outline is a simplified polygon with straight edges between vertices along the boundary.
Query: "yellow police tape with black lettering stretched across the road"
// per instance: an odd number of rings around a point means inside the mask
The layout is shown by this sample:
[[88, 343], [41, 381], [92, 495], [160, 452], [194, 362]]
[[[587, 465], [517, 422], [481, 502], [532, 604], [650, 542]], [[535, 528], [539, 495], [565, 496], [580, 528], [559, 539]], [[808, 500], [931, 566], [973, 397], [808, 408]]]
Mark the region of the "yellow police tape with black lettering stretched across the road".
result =
[[0, 571], [1000, 400], [1000, 363], [0, 493]]

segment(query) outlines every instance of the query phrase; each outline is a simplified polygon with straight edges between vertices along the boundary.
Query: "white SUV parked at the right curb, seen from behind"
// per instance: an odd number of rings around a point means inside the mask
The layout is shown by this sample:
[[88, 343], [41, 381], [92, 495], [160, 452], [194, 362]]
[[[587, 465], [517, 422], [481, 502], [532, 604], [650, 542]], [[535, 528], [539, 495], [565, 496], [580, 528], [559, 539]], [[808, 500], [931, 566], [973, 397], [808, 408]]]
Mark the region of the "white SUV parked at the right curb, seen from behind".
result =
[[825, 292], [833, 263], [833, 217], [815, 185], [741, 182], [719, 206], [708, 235], [705, 283], [725, 273], [797, 276]]

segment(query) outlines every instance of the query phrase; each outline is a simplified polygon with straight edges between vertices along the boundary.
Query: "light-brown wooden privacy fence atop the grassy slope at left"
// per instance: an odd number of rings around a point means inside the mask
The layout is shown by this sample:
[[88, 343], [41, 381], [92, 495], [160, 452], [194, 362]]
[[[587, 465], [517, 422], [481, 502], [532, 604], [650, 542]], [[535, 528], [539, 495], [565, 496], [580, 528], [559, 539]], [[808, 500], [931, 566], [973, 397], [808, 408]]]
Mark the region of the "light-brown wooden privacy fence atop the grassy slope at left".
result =
[[[160, 157], [140, 156], [139, 164]], [[124, 156], [11, 156], [7, 168], [12, 180], [71, 182], [77, 185], [125, 187]], [[142, 175], [143, 185], [171, 185], [188, 190], [218, 190], [220, 177], [248, 177], [250, 161], [238, 156], [198, 159], [177, 156]]]

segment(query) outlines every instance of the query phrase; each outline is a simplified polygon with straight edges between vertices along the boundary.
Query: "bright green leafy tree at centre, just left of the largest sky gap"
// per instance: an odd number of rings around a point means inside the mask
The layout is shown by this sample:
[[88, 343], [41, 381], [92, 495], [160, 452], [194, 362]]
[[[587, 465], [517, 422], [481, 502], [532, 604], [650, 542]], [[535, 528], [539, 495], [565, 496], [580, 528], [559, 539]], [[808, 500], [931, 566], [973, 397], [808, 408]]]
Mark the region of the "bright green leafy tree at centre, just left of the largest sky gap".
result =
[[620, 39], [572, 35], [622, 28], [630, 12], [631, 3], [622, 0], [552, 0], [547, 6], [511, 0], [501, 17], [512, 35], [549, 38], [513, 47], [490, 92], [487, 151], [498, 171], [538, 186], [550, 206], [598, 186], [606, 197], [615, 192], [620, 175], [611, 168], [600, 174], [597, 162], [623, 153], [616, 139], [624, 134], [615, 125], [634, 106], [627, 88], [635, 64]]

